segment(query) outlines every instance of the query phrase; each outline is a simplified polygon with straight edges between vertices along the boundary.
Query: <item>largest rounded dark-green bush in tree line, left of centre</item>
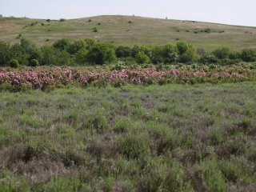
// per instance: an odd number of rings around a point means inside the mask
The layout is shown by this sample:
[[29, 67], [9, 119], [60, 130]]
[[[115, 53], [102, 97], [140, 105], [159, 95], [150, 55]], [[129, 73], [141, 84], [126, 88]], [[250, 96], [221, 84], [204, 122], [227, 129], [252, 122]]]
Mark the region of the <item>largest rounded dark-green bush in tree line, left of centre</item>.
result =
[[91, 64], [103, 65], [104, 63], [114, 62], [115, 60], [114, 47], [106, 43], [94, 45], [86, 54], [86, 61]]

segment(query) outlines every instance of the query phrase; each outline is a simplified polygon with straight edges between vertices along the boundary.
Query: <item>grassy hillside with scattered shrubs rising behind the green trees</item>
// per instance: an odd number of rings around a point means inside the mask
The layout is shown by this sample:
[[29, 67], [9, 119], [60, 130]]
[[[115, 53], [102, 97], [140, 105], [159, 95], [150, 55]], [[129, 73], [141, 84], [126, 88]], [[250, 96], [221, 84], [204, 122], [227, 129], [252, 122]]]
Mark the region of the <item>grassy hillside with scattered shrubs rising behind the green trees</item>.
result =
[[19, 35], [38, 45], [51, 44], [59, 38], [96, 38], [114, 45], [166, 44], [182, 40], [208, 51], [219, 46], [228, 46], [231, 50], [256, 48], [256, 28], [247, 26], [133, 16], [97, 16], [64, 22], [0, 18], [0, 40], [18, 42]]

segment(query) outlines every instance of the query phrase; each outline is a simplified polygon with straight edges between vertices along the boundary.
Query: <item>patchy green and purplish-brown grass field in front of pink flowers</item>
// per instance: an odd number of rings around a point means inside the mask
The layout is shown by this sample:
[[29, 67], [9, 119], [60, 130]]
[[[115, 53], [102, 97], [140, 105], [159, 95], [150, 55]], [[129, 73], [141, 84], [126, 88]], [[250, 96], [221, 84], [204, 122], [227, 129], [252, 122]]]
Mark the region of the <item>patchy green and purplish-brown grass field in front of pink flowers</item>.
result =
[[0, 93], [1, 191], [254, 191], [256, 86]]

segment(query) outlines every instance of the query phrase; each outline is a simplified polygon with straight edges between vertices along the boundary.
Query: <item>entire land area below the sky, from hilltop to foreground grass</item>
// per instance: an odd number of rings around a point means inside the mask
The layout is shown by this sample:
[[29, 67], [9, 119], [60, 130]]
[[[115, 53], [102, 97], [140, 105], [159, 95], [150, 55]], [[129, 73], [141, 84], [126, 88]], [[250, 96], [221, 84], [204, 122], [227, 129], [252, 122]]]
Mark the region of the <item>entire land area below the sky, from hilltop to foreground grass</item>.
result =
[[0, 192], [255, 191], [255, 34], [0, 18]]

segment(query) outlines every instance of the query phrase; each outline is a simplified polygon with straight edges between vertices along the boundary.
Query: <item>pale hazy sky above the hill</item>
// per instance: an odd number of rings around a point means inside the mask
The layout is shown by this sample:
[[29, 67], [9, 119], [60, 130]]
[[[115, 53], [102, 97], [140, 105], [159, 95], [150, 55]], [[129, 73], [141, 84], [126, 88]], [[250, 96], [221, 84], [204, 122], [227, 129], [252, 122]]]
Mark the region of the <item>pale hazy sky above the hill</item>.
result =
[[256, 26], [256, 0], [0, 0], [0, 14], [52, 19], [135, 14]]

